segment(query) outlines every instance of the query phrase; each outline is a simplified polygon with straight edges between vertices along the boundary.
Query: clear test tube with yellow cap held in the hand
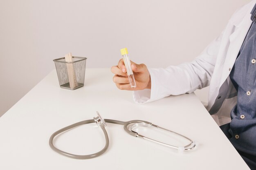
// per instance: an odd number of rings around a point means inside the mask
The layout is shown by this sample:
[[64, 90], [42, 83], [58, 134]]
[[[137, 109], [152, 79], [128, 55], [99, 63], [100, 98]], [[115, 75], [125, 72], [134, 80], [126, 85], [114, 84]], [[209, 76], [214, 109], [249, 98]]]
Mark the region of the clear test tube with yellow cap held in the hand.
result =
[[126, 67], [128, 79], [129, 79], [129, 82], [130, 82], [130, 86], [131, 86], [131, 88], [135, 88], [136, 83], [135, 83], [134, 75], [133, 75], [132, 68], [131, 68], [130, 58], [128, 57], [127, 54], [128, 54], [128, 51], [127, 51], [126, 48], [121, 49], [121, 55], [122, 55], [123, 60], [124, 60], [124, 65]]

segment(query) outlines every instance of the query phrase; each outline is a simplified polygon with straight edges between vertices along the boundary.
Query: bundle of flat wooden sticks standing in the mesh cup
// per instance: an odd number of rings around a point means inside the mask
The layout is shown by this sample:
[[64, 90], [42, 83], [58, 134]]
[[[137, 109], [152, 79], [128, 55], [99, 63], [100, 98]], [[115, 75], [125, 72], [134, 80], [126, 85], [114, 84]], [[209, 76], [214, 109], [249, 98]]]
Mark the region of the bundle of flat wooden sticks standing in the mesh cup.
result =
[[[67, 53], [65, 55], [65, 61], [66, 62], [72, 62], [72, 54]], [[67, 75], [68, 75], [68, 80], [70, 82], [70, 88], [75, 88], [78, 86], [77, 81], [76, 81], [76, 73], [74, 70], [73, 63], [67, 63]]]

